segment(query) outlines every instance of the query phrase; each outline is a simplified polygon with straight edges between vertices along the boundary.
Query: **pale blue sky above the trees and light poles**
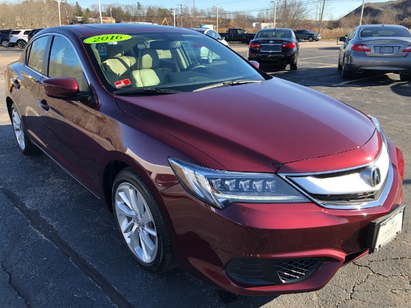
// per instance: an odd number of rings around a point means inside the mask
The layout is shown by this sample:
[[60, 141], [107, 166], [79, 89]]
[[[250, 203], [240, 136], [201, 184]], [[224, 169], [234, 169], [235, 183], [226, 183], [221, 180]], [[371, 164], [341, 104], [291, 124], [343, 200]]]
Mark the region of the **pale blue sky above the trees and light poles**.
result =
[[[101, 5], [108, 5], [108, 4], [132, 4], [137, 3], [137, 1], [127, 1], [127, 0], [100, 0]], [[223, 8], [226, 12], [244, 12], [247, 14], [258, 14], [258, 10], [265, 10], [271, 9], [273, 10], [273, 2], [270, 0], [138, 0], [141, 5], [153, 5], [159, 6], [162, 8], [175, 8], [177, 12], [179, 12], [180, 4], [183, 7], [188, 6], [192, 8], [193, 4], [198, 9], [208, 10], [211, 9], [213, 6], [218, 6], [220, 9]], [[284, 5], [284, 1], [280, 0], [277, 3], [277, 8], [279, 5]], [[309, 8], [312, 8], [312, 17], [315, 18], [315, 11], [318, 5], [322, 5], [323, 0], [300, 0], [302, 3], [306, 3]], [[376, 0], [372, 2], [384, 2], [386, 0]], [[75, 3], [75, 0], [68, 0], [69, 3]], [[88, 8], [90, 5], [97, 5], [98, 0], [78, 0], [79, 5], [82, 8]], [[370, 1], [366, 1], [370, 2]], [[324, 20], [336, 20], [340, 17], [345, 16], [352, 10], [358, 8], [362, 5], [362, 0], [325, 0], [325, 10], [324, 10]], [[320, 6], [321, 8], [321, 6]], [[215, 10], [215, 9], [214, 9]]]

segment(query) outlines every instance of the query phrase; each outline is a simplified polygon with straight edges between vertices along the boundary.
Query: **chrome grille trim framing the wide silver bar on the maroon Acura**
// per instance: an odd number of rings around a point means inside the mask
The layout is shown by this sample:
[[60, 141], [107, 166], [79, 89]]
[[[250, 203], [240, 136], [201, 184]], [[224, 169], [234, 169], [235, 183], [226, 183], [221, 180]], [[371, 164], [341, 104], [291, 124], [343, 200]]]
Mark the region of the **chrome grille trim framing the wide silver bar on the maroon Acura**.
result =
[[[382, 151], [384, 151], [384, 146], [382, 148]], [[308, 198], [310, 201], [315, 203], [316, 205], [319, 205], [321, 207], [325, 207], [327, 209], [368, 209], [371, 207], [380, 207], [382, 206], [386, 198], [388, 197], [388, 194], [393, 186], [393, 181], [394, 181], [394, 170], [393, 170], [393, 165], [389, 161], [389, 166], [388, 166], [388, 174], [386, 176], [386, 183], [384, 188], [382, 188], [382, 193], [379, 196], [379, 198], [375, 201], [369, 201], [369, 202], [363, 202], [363, 203], [355, 203], [353, 205], [347, 205], [347, 204], [341, 204], [338, 203], [338, 201], [330, 201], [329, 203], [324, 203], [313, 196], [311, 196], [306, 190], [303, 190], [299, 185], [297, 185], [294, 181], [290, 179], [290, 177], [305, 177], [305, 176], [312, 176], [312, 175], [327, 175], [327, 174], [332, 174], [332, 173], [339, 173], [339, 172], [347, 172], [351, 170], [356, 170], [364, 167], [369, 167], [373, 166], [375, 161], [377, 161], [382, 154], [382, 151], [379, 153], [378, 157], [371, 162], [370, 164], [364, 164], [362, 166], [356, 166], [352, 168], [345, 168], [345, 169], [340, 169], [340, 170], [331, 170], [331, 171], [325, 171], [325, 172], [308, 172], [308, 173], [279, 173], [279, 177], [282, 177], [284, 181], [286, 181], [288, 184], [292, 185], [293, 188], [301, 192], [306, 198]]]

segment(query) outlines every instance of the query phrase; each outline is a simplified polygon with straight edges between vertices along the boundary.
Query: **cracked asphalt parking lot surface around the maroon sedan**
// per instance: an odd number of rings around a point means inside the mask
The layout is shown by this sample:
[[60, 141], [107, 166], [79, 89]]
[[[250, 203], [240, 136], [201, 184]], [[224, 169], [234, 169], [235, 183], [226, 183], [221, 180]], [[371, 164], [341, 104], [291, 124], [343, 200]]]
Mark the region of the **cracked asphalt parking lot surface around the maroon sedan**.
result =
[[[245, 56], [245, 44], [232, 44]], [[411, 82], [395, 74], [345, 81], [335, 41], [301, 42], [298, 70], [262, 70], [376, 116], [406, 160], [411, 201]], [[0, 47], [0, 69], [21, 56]], [[341, 268], [317, 292], [235, 296], [175, 269], [149, 274], [129, 255], [114, 218], [47, 157], [19, 153], [0, 78], [0, 307], [411, 307], [411, 210], [381, 251]], [[349, 125], [349, 123], [347, 123]], [[301, 149], [303, 151], [303, 149]], [[324, 235], [327, 236], [327, 235]]]

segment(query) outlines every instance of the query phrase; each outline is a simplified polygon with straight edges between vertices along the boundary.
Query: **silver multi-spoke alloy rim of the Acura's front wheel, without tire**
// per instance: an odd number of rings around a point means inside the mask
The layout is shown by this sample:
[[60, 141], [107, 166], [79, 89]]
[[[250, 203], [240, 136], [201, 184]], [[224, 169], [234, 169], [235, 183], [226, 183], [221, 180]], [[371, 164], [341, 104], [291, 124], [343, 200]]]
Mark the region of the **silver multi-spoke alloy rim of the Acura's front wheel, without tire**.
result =
[[153, 263], [158, 251], [158, 237], [145, 198], [134, 185], [124, 182], [116, 189], [114, 206], [129, 249], [142, 264]]

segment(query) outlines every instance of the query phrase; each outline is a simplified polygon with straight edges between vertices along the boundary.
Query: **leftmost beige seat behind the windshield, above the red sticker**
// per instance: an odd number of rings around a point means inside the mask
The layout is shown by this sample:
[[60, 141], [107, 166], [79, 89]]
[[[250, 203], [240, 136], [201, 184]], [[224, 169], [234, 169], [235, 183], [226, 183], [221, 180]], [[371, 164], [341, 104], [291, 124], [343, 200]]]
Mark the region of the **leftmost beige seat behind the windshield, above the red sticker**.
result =
[[132, 69], [136, 68], [136, 58], [125, 56], [123, 46], [119, 44], [106, 45], [105, 52], [109, 58], [101, 66], [110, 84], [114, 84], [114, 81], [130, 79]]

